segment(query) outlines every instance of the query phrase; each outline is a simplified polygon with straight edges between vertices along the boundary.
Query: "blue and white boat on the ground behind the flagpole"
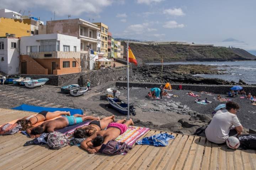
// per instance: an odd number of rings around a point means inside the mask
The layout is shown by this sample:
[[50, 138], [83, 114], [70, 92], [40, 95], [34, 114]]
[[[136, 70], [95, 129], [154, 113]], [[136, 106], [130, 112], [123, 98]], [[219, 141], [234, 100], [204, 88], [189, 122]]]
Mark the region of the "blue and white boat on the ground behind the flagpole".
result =
[[[107, 97], [108, 103], [119, 113], [127, 115], [128, 114], [128, 108], [127, 108], [127, 103], [124, 103], [122, 100], [120, 100], [117, 97]], [[106, 106], [108, 108], [108, 106]], [[129, 105], [129, 114], [136, 115], [133, 105]]]

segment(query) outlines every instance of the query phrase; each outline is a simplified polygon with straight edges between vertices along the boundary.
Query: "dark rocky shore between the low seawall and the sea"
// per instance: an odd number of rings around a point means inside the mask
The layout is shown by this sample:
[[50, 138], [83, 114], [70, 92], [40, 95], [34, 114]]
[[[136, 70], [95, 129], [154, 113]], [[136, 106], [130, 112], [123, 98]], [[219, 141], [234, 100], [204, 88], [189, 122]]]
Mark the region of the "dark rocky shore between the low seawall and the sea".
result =
[[[188, 84], [225, 84], [225, 85], [246, 85], [240, 80], [238, 83], [229, 82], [218, 78], [203, 78], [197, 74], [224, 74], [224, 70], [217, 70], [216, 66], [206, 65], [164, 65], [162, 71], [162, 82], [188, 83]], [[126, 81], [127, 77], [119, 77], [118, 80]], [[134, 82], [161, 82], [161, 65], [141, 65], [133, 67], [133, 74], [130, 81]]]

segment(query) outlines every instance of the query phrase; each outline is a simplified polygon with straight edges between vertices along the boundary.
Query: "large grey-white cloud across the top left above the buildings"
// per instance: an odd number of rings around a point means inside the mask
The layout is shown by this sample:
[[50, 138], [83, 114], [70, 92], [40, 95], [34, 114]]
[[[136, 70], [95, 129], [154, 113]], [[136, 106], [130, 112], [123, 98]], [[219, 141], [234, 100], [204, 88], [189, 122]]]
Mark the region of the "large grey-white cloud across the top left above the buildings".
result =
[[94, 13], [98, 14], [106, 6], [110, 6], [113, 2], [117, 0], [22, 0], [22, 1], [11, 1], [11, 0], [1, 0], [1, 8], [6, 8], [10, 10], [26, 10], [28, 8], [32, 9], [44, 9], [50, 12], [56, 13], [57, 16], [79, 16], [82, 13]]

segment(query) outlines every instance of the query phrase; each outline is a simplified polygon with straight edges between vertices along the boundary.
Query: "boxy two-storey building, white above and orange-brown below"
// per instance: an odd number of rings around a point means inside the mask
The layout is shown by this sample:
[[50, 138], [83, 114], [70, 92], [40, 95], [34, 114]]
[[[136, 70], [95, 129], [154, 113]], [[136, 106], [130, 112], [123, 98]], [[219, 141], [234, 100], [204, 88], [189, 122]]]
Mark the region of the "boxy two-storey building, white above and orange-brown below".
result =
[[20, 73], [61, 75], [80, 72], [80, 42], [77, 37], [58, 33], [21, 37]]

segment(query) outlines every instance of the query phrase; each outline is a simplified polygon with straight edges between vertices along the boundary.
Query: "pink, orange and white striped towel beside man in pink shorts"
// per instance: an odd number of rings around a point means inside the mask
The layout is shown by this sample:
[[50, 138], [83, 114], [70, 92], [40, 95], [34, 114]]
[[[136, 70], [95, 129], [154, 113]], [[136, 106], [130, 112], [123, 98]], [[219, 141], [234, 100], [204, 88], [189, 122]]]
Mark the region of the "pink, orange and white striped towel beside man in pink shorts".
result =
[[127, 131], [116, 138], [117, 142], [125, 142], [133, 145], [142, 135], [149, 131], [149, 128], [128, 126]]

